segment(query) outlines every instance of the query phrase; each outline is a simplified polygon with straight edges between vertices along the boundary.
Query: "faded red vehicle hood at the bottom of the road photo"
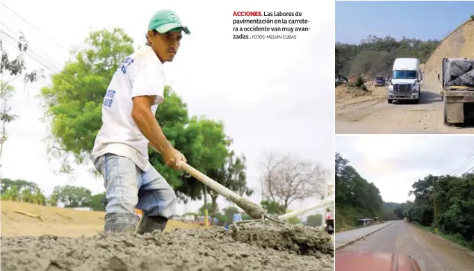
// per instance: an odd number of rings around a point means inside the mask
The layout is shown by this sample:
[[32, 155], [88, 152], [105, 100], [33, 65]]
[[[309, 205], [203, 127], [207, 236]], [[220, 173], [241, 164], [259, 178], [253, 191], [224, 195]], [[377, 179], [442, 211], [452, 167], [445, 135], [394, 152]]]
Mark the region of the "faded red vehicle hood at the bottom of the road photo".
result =
[[421, 271], [410, 256], [336, 250], [336, 271]]

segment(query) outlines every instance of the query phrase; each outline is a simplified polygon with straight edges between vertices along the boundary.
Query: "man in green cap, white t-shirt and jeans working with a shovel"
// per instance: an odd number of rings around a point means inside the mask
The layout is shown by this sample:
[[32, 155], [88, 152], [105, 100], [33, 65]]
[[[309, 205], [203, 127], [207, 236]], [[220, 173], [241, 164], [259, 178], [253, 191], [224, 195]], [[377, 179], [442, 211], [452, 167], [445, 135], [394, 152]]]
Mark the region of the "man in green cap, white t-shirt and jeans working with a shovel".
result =
[[148, 161], [148, 146], [163, 155], [167, 166], [180, 169], [183, 154], [167, 140], [155, 113], [163, 103], [165, 72], [181, 42], [189, 34], [176, 13], [161, 10], [149, 22], [147, 46], [126, 58], [108, 85], [102, 106], [102, 126], [92, 157], [104, 176], [106, 217], [104, 231], [163, 231], [175, 214], [174, 191]]

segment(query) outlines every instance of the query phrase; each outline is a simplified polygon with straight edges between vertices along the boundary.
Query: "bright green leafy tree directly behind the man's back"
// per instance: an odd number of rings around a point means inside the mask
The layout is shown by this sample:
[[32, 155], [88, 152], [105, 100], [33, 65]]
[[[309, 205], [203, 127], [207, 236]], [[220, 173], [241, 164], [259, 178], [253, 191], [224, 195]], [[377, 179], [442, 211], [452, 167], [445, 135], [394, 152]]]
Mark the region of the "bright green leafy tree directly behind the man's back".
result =
[[92, 31], [85, 48], [73, 51], [73, 60], [51, 85], [42, 88], [45, 117], [50, 121], [50, 154], [63, 158], [61, 171], [70, 172], [69, 154], [81, 164], [88, 158], [101, 127], [104, 93], [117, 67], [133, 52], [133, 40], [120, 28]]

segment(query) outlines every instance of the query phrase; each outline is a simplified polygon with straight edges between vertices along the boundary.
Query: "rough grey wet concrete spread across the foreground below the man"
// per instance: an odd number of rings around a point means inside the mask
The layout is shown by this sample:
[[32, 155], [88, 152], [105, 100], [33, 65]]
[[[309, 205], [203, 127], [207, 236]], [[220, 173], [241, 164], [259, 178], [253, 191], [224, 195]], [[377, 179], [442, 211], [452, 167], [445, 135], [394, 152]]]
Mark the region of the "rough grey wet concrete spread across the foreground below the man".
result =
[[334, 270], [334, 252], [323, 251], [302, 256], [264, 249], [238, 243], [218, 228], [142, 236], [19, 236], [1, 238], [1, 270]]

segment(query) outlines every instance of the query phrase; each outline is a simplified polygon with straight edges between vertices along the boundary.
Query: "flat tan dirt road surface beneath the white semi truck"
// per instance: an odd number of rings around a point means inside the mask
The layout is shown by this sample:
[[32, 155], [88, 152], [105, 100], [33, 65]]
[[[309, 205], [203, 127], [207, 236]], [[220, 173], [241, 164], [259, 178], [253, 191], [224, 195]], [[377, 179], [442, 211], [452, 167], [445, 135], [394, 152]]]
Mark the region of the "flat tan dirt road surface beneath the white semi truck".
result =
[[420, 104], [386, 101], [386, 87], [378, 88], [377, 99], [338, 105], [336, 133], [474, 133], [474, 126], [445, 126], [439, 92], [421, 88]]

